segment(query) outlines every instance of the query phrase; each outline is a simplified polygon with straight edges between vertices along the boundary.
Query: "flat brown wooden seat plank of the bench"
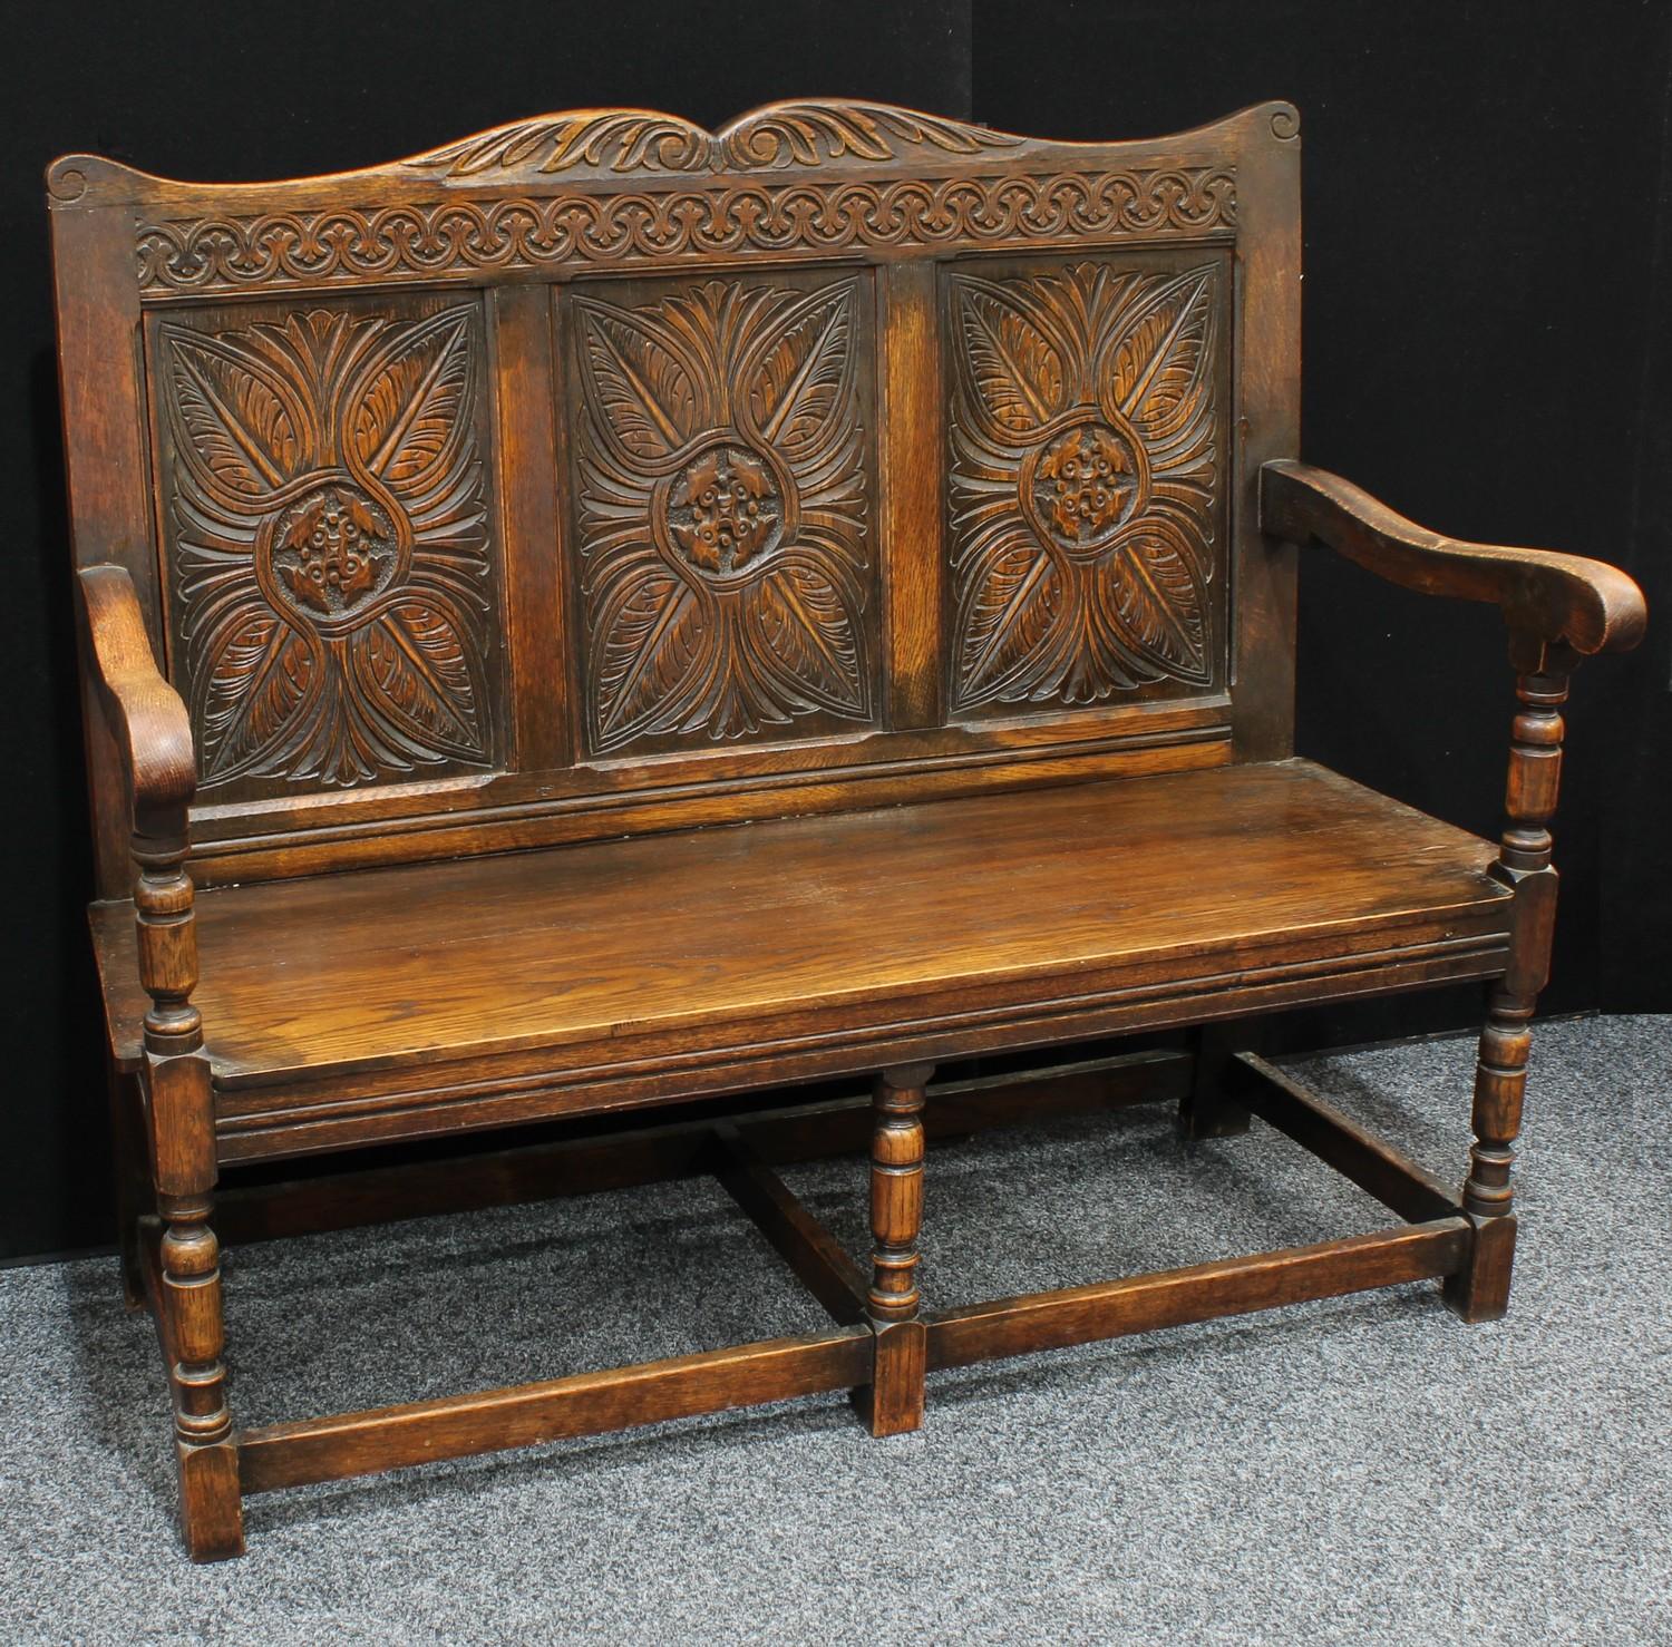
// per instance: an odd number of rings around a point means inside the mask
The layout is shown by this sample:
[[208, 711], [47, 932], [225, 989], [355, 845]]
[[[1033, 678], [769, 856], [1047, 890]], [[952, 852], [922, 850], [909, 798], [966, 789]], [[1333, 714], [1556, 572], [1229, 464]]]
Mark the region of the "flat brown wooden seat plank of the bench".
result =
[[[199, 895], [217, 1084], [1506, 931], [1493, 848], [1302, 761]], [[139, 1050], [132, 910], [94, 918]], [[786, 933], [796, 941], [788, 945]], [[487, 1010], [492, 1003], [492, 1012]], [[731, 1028], [729, 1028], [731, 1027]]]

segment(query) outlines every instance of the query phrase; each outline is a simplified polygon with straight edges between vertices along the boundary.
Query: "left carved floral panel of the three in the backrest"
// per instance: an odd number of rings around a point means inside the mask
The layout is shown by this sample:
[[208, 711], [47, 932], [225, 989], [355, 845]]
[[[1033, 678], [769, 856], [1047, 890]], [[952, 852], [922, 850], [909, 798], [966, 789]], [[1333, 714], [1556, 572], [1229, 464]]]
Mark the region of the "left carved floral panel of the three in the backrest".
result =
[[150, 323], [171, 671], [204, 799], [493, 769], [478, 301]]

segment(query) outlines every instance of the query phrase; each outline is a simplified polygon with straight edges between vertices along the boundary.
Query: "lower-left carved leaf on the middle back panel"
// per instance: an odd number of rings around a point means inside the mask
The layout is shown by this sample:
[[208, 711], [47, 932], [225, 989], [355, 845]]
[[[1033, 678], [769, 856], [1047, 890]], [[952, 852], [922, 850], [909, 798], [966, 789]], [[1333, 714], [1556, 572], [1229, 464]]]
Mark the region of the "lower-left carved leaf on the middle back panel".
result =
[[602, 747], [675, 726], [712, 657], [704, 607], [659, 565], [624, 579], [597, 617], [597, 727]]

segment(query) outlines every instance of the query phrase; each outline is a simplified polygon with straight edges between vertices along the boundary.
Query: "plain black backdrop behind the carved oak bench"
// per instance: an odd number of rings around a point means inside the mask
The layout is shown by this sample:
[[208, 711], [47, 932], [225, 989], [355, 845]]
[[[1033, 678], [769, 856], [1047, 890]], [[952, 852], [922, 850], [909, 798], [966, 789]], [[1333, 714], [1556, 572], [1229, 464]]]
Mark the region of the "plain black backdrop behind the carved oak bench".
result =
[[[1672, 610], [1672, 8], [1660, 0], [100, 0], [32, 8], [7, 35], [0, 1257], [107, 1234], [40, 186], [60, 152], [256, 179], [373, 164], [582, 104], [712, 125], [774, 97], [863, 95], [1038, 135], [1125, 137], [1289, 97], [1308, 145], [1306, 455], [1443, 530], [1615, 558]], [[1302, 749], [1495, 831], [1510, 714], [1495, 614], [1326, 562], [1302, 589]], [[1672, 876], [1654, 804], [1672, 757], [1667, 630], [1578, 681], [1552, 1010], [1672, 1007]], [[1401, 1000], [1292, 1035], [1363, 1038], [1471, 1013], [1471, 1000]]]

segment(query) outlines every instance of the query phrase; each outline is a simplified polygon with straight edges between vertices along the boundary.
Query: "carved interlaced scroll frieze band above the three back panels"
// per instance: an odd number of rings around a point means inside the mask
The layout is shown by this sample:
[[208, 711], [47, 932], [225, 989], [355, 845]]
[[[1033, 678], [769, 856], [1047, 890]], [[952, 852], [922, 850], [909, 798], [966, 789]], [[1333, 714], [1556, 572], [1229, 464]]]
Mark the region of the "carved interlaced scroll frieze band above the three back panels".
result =
[[140, 222], [139, 284], [171, 293], [329, 286], [701, 259], [1204, 236], [1236, 227], [1229, 166], [990, 177], [729, 182], [620, 194], [530, 194], [378, 209]]

